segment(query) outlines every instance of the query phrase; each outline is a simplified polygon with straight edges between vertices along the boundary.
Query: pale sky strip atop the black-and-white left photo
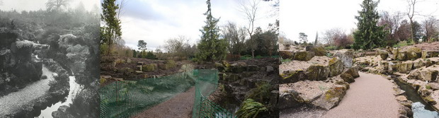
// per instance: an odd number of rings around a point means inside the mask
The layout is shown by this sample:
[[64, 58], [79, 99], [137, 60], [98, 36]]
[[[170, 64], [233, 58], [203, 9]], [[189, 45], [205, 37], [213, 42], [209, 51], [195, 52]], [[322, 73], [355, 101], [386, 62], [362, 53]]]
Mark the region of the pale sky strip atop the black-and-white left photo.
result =
[[[45, 10], [46, 2], [48, 0], [0, 0], [3, 1], [3, 5], [0, 9], [3, 11], [16, 10], [21, 11], [38, 11], [40, 9]], [[86, 11], [91, 11], [91, 9], [96, 6], [101, 6], [98, 0], [71, 0], [69, 3], [69, 8], [76, 8], [79, 3], [83, 3]]]

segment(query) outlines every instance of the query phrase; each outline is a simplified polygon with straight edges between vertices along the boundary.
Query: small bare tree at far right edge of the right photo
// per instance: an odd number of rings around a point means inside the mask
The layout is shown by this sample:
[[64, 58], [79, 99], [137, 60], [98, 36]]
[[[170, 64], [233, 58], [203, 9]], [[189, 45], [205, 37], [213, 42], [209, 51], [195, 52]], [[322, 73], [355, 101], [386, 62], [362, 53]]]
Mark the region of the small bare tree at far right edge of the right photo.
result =
[[429, 17], [423, 20], [423, 30], [425, 31], [426, 41], [431, 42], [435, 37], [438, 38], [438, 19]]

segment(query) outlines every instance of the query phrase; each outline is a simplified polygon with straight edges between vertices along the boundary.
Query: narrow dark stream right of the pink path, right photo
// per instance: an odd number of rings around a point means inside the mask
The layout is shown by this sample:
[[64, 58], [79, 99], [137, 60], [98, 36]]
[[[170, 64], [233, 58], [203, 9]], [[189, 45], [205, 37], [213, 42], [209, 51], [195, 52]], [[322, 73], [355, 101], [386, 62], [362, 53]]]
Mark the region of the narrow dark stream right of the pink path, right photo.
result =
[[418, 92], [411, 87], [411, 85], [402, 83], [401, 81], [399, 81], [399, 79], [395, 78], [394, 76], [392, 76], [392, 78], [394, 78], [395, 83], [397, 83], [397, 85], [399, 86], [399, 88], [401, 88], [401, 90], [406, 91], [405, 93], [402, 93], [402, 95], [405, 95], [408, 100], [414, 102], [413, 104], [411, 104], [411, 110], [414, 113], [414, 118], [439, 117], [438, 112], [436, 112], [435, 109], [430, 104], [425, 102], [421, 98], [421, 95], [419, 95]]

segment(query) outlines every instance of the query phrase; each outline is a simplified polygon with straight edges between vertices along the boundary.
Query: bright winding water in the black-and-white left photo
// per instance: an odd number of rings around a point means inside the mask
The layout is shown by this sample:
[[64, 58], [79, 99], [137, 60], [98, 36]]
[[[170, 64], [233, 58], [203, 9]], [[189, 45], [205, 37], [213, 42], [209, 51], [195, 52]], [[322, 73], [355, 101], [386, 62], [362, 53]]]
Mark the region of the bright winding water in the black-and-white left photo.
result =
[[52, 112], [57, 111], [59, 107], [61, 107], [62, 105], [69, 106], [69, 104], [72, 103], [76, 94], [79, 93], [84, 88], [83, 86], [76, 83], [75, 79], [76, 78], [74, 76], [69, 76], [70, 91], [69, 91], [69, 95], [67, 95], [67, 100], [65, 102], [59, 101], [55, 103], [55, 105], [47, 107], [45, 110], [41, 111], [41, 114], [38, 117], [52, 117]]

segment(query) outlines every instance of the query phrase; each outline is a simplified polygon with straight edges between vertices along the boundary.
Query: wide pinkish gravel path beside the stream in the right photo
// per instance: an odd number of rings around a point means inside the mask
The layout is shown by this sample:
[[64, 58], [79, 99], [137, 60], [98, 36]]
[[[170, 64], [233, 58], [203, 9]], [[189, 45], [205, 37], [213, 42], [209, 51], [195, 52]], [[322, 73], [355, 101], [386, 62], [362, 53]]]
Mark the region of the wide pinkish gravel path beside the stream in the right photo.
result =
[[392, 86], [380, 75], [360, 72], [340, 104], [323, 117], [397, 117], [399, 103]]

